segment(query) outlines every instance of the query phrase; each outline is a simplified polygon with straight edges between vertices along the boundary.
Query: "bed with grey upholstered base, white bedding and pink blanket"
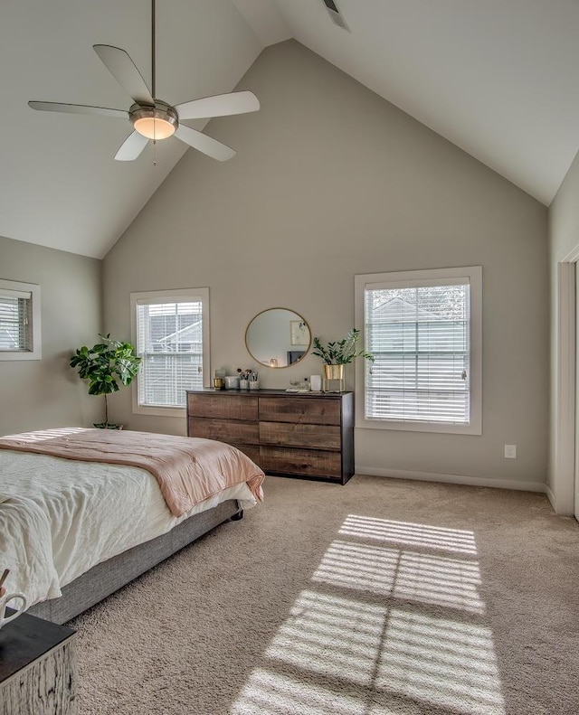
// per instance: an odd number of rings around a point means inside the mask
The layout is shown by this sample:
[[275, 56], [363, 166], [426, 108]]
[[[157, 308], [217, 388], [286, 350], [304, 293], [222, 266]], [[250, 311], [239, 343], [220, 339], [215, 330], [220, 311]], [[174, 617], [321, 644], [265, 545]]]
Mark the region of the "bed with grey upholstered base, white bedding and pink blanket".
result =
[[0, 568], [28, 610], [64, 623], [261, 502], [235, 447], [130, 430], [0, 437]]

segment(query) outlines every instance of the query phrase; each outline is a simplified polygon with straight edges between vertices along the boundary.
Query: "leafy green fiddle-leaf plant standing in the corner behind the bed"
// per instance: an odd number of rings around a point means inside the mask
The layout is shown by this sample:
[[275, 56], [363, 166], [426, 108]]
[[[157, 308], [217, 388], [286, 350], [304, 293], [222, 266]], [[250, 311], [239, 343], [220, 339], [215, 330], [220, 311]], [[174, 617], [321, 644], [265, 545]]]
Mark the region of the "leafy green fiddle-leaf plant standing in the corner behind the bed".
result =
[[109, 423], [109, 405], [107, 395], [120, 390], [119, 382], [130, 385], [137, 376], [141, 358], [135, 354], [131, 343], [113, 340], [110, 334], [99, 334], [100, 343], [91, 348], [83, 345], [71, 357], [70, 365], [78, 368], [81, 380], [89, 381], [90, 395], [104, 395], [105, 421], [95, 423], [95, 427], [120, 429], [119, 425]]

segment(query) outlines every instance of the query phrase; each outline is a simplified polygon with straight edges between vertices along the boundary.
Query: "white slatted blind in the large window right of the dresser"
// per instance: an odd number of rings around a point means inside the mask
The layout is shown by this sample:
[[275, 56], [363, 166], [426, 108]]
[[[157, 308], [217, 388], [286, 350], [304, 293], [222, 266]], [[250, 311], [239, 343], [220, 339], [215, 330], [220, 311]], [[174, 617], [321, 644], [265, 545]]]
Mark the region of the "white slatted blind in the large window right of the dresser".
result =
[[367, 419], [469, 423], [468, 278], [366, 287], [365, 347]]

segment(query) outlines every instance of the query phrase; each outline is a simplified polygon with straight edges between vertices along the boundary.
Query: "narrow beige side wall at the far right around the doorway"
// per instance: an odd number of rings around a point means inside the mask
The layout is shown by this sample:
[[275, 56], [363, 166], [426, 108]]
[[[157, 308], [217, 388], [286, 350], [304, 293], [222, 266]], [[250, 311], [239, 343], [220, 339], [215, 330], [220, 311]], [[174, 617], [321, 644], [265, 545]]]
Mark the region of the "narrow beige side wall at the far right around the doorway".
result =
[[[559, 374], [559, 341], [564, 341], [565, 336], [559, 335], [559, 325], [568, 332], [565, 320], [559, 320], [562, 306], [559, 304], [561, 261], [568, 259], [575, 253], [574, 260], [579, 257], [579, 155], [565, 176], [554, 201], [549, 208], [549, 259], [551, 271], [551, 425], [550, 425], [550, 460], [548, 485], [550, 498], [559, 513], [573, 513], [574, 499], [574, 458], [573, 458], [573, 431], [567, 435], [569, 428], [568, 419], [559, 423], [558, 383], [565, 381], [565, 375]], [[565, 267], [563, 267], [565, 268]], [[571, 328], [573, 330], [573, 328]], [[571, 366], [573, 368], [573, 366]], [[569, 384], [568, 381], [565, 384]], [[564, 395], [563, 398], [568, 398]], [[568, 404], [573, 409], [573, 400]], [[562, 409], [562, 414], [565, 409]], [[569, 439], [566, 439], [568, 436]]]

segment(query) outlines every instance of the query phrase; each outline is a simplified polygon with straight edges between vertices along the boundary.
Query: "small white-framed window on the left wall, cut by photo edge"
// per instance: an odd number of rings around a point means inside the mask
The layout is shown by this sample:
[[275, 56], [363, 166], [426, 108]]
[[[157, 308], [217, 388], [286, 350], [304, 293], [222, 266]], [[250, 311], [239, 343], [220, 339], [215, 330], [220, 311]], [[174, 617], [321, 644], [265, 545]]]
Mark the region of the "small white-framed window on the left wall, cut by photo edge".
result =
[[0, 280], [0, 360], [40, 360], [40, 286]]

